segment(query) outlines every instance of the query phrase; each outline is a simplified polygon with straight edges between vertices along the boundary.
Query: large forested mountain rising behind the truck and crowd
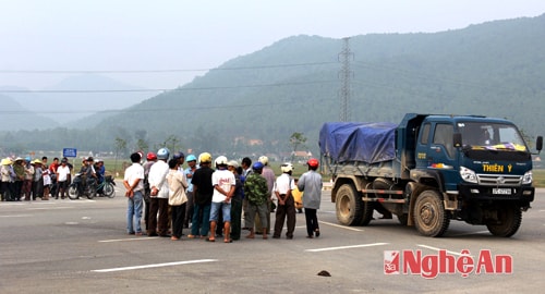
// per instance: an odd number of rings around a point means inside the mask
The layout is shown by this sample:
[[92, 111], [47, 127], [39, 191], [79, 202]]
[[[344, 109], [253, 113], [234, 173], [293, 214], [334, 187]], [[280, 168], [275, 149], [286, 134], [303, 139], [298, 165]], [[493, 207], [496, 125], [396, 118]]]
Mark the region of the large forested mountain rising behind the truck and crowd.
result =
[[[354, 36], [349, 46], [352, 121], [399, 122], [405, 112], [484, 114], [512, 120], [531, 137], [544, 134], [545, 14], [435, 34]], [[322, 124], [339, 120], [342, 48], [341, 39], [289, 37], [104, 119], [97, 128], [63, 132], [81, 149], [112, 150], [118, 137], [129, 149], [138, 140], [149, 148], [170, 142], [228, 155], [289, 151], [290, 135], [300, 132], [316, 152]]]

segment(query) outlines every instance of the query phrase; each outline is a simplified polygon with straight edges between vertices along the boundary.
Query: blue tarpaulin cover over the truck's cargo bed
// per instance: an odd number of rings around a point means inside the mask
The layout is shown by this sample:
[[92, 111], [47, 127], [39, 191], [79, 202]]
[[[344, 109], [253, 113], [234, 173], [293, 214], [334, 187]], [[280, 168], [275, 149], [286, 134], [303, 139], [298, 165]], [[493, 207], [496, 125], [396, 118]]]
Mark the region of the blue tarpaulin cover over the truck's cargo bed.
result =
[[319, 131], [319, 149], [337, 162], [392, 160], [397, 127], [393, 123], [325, 123]]

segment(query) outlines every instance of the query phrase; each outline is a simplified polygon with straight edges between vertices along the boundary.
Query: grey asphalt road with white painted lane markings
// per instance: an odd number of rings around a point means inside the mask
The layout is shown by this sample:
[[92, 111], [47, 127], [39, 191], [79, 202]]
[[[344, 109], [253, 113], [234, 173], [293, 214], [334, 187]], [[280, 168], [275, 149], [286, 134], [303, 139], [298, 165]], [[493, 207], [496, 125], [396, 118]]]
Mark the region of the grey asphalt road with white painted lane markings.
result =
[[[298, 215], [293, 240], [231, 244], [128, 235], [126, 203], [122, 191], [117, 195], [0, 203], [0, 293], [541, 293], [545, 286], [545, 189], [510, 238], [459, 221], [439, 238], [395, 219], [341, 226], [325, 191], [320, 237], [306, 238], [304, 215]], [[424, 268], [440, 249], [452, 262], [465, 249], [475, 264], [485, 261], [479, 258], [486, 249], [509, 256], [512, 272], [487, 273], [482, 266], [464, 278], [461, 267], [426, 279], [403, 273], [407, 265], [399, 274], [384, 272], [385, 250], [421, 253]], [[330, 277], [317, 275], [323, 270]]]

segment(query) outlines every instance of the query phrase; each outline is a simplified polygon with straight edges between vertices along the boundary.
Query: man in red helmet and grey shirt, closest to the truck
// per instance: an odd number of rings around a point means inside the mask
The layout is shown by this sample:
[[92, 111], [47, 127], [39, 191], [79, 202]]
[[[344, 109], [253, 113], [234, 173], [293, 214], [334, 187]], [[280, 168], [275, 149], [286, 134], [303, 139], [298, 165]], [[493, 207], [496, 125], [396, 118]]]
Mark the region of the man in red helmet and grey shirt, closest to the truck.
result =
[[316, 172], [318, 160], [311, 158], [306, 162], [308, 171], [299, 179], [298, 187], [303, 192], [303, 207], [305, 208], [306, 233], [308, 238], [314, 235], [319, 236], [318, 218], [316, 211], [319, 209], [322, 200], [322, 175]]

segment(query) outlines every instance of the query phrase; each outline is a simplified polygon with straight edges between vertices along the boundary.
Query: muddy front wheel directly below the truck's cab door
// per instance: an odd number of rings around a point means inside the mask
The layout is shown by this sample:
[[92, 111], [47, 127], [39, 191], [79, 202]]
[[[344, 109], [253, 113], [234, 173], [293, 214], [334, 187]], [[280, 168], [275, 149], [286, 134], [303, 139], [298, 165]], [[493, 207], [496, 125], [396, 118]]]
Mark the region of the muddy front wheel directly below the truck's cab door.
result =
[[424, 191], [414, 204], [414, 225], [425, 236], [441, 236], [450, 224], [443, 199], [437, 191]]

